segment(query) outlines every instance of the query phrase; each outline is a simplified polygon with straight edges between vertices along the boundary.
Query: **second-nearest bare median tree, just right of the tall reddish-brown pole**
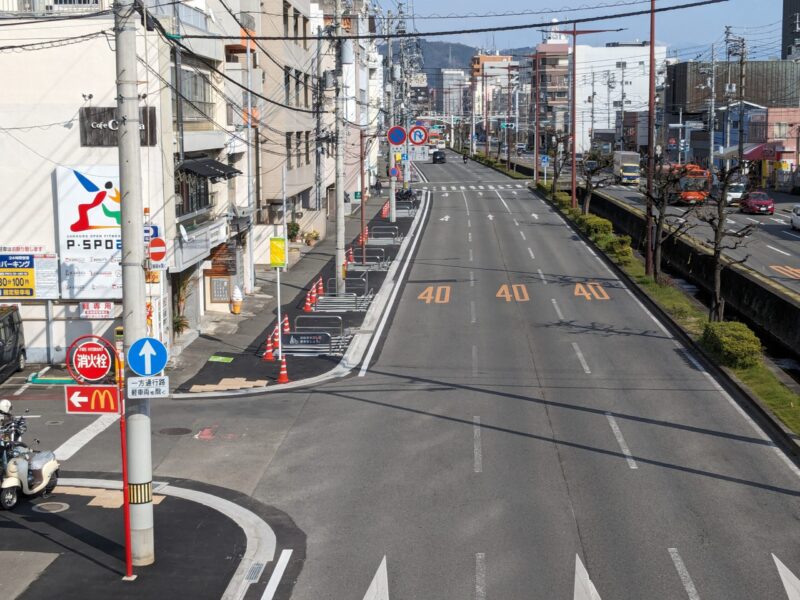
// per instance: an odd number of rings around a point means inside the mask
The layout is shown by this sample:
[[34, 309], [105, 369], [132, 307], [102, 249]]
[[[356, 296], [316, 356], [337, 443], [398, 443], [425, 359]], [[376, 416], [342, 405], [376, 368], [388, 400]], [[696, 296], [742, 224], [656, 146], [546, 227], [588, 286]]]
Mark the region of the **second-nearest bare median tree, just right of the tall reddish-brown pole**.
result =
[[[648, 193], [646, 187], [641, 187], [645, 201], [648, 199], [653, 204], [655, 222], [653, 224], [653, 279], [656, 282], [663, 280], [661, 257], [663, 256], [664, 243], [672, 238], [677, 238], [694, 227], [690, 217], [696, 211], [695, 206], [685, 205], [681, 202], [681, 192], [685, 187], [683, 180], [688, 172], [686, 165], [669, 165], [655, 163], [653, 172], [653, 190]], [[647, 177], [647, 170], [642, 174], [642, 181]], [[682, 208], [677, 214], [670, 214], [669, 207], [678, 204]]]

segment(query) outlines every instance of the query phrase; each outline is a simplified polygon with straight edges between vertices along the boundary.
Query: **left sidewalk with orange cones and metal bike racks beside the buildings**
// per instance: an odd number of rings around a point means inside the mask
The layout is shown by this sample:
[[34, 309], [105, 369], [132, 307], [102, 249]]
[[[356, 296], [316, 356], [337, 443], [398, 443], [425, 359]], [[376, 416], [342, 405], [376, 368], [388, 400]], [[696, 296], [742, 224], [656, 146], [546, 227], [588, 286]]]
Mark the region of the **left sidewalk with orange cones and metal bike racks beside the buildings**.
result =
[[[385, 224], [380, 210], [388, 199], [386, 188], [382, 196], [374, 196], [366, 206], [368, 224]], [[407, 230], [409, 223], [403, 227]], [[361, 228], [361, 215], [355, 212], [346, 218], [346, 246], [354, 247]], [[336, 235], [329, 228], [328, 237], [305, 252], [302, 258], [281, 276], [282, 311], [288, 314], [293, 327], [294, 319], [302, 315], [306, 292], [320, 276], [327, 288], [328, 280], [335, 276]], [[384, 272], [370, 272], [369, 287], [376, 292], [385, 277]], [[276, 274], [273, 270], [256, 271], [259, 292], [245, 299], [240, 315], [220, 314], [210, 318], [212, 331], [207, 331], [193, 341], [167, 369], [170, 384], [175, 392], [213, 392], [261, 388], [273, 384], [280, 363], [264, 362], [261, 355], [267, 335], [274, 329], [277, 316]], [[346, 329], [361, 324], [363, 313], [339, 313]], [[292, 381], [322, 375], [339, 363], [338, 357], [287, 358]]]

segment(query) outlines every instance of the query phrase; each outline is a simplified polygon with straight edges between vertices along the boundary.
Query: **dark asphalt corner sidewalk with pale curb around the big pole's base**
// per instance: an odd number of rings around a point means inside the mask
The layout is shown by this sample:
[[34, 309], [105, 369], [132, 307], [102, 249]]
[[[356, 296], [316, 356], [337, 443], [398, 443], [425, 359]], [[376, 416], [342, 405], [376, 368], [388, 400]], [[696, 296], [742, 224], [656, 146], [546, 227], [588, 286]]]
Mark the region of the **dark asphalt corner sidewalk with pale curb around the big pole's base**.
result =
[[[109, 476], [108, 480], [117, 477]], [[106, 480], [97, 481], [102, 484]], [[232, 520], [220, 507], [241, 506], [267, 531], [271, 529], [266, 522], [271, 509], [259, 505], [253, 512], [253, 503], [242, 506], [235, 494], [229, 493], [228, 500], [213, 495], [220, 490], [210, 486], [165, 482], [161, 484], [164, 493], [156, 491], [153, 495], [158, 532], [156, 562], [134, 568], [136, 579], [123, 581], [122, 492], [71, 483], [65, 480], [65, 485], [59, 485], [49, 498], [23, 501], [14, 510], [0, 514], [0, 585], [4, 598], [210, 600], [222, 598], [231, 586], [241, 587], [242, 597], [248, 589], [255, 592], [266, 586], [273, 570], [273, 564], [268, 563], [281, 546], [304, 547], [303, 534], [290, 527], [275, 529], [277, 540], [270, 534], [272, 542], [255, 548], [252, 532], [245, 531], [242, 523]], [[201, 499], [189, 500], [181, 495]], [[250, 567], [247, 556], [254, 549], [265, 562], [259, 563], [261, 570], [247, 581], [240, 577], [242, 565]], [[282, 587], [286, 590], [291, 583], [284, 582]]]

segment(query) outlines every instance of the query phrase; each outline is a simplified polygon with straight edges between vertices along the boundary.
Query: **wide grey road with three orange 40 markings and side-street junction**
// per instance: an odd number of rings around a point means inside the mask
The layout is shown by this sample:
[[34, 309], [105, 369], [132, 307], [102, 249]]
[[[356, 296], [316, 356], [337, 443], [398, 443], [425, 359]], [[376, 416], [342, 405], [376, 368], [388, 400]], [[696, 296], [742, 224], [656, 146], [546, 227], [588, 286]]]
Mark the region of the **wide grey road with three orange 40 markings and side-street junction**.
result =
[[[371, 599], [588, 598], [583, 567], [605, 600], [790, 598], [772, 554], [800, 573], [800, 472], [522, 183], [422, 170], [432, 210], [365, 376], [154, 402], [155, 476], [291, 519], [297, 600], [362, 600], [384, 557]], [[25, 398], [43, 447], [88, 423]], [[114, 429], [65, 468], [118, 471]]]

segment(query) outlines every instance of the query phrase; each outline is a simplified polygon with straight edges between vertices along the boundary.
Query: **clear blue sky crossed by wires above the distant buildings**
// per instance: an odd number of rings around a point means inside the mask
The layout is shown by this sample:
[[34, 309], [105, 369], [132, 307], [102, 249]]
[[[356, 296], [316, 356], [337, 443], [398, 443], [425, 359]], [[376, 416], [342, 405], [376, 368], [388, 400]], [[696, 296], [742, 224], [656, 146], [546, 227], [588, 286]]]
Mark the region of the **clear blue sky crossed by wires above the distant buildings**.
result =
[[[656, 7], [689, 3], [692, 0], [657, 0]], [[397, 0], [380, 0], [385, 10], [397, 10]], [[614, 6], [619, 4], [619, 6]], [[570, 18], [614, 14], [649, 8], [647, 0], [415, 0], [414, 8], [419, 17], [419, 31], [447, 31], [453, 29], [481, 28], [524, 23], [540, 23], [551, 18]], [[602, 6], [594, 10], [581, 7]], [[608, 6], [606, 6], [608, 5]], [[783, 0], [729, 0], [717, 5], [701, 6], [657, 15], [656, 40], [669, 48], [681, 51], [681, 58], [692, 58], [688, 54], [698, 46], [710, 46], [721, 41], [725, 25], [731, 25], [734, 33], [753, 40], [760, 58], [780, 56], [780, 20]], [[580, 8], [568, 11], [565, 9]], [[484, 15], [490, 12], [560, 10], [560, 13], [529, 14], [506, 17], [465, 18], [465, 15]], [[459, 18], [430, 19], [428, 16], [459, 15]], [[602, 45], [613, 41], [632, 41], [649, 38], [649, 17], [631, 17], [619, 20], [600, 21], [596, 24], [579, 25], [579, 28], [616, 29], [616, 33], [581, 36], [579, 43]], [[541, 40], [537, 29], [494, 34], [497, 49], [532, 46]], [[492, 47], [491, 33], [429, 38], [455, 41], [472, 46]]]

